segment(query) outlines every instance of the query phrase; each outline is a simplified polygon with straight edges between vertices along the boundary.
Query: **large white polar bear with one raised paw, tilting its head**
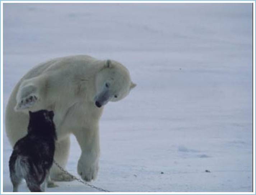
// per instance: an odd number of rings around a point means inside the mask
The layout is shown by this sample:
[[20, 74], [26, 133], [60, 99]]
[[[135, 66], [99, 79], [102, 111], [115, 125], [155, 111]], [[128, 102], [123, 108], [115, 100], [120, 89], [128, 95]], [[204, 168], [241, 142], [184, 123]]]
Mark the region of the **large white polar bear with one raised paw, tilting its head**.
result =
[[[96, 179], [99, 161], [99, 119], [109, 101], [125, 98], [136, 84], [115, 60], [88, 55], [52, 59], [32, 68], [13, 89], [6, 107], [5, 129], [12, 146], [27, 132], [28, 111], [53, 110], [57, 131], [54, 159], [65, 167], [73, 133], [81, 148], [78, 174]], [[70, 181], [55, 165], [51, 179]]]

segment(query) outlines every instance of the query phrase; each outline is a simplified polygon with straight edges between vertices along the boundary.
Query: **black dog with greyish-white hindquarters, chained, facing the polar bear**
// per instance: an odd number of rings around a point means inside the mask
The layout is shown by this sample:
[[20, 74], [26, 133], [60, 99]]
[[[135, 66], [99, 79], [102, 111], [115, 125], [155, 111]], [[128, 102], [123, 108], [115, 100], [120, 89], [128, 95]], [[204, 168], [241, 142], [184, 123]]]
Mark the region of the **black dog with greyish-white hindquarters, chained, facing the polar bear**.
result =
[[45, 191], [57, 139], [53, 115], [53, 111], [29, 111], [28, 134], [15, 143], [9, 160], [14, 192], [23, 178], [30, 191]]

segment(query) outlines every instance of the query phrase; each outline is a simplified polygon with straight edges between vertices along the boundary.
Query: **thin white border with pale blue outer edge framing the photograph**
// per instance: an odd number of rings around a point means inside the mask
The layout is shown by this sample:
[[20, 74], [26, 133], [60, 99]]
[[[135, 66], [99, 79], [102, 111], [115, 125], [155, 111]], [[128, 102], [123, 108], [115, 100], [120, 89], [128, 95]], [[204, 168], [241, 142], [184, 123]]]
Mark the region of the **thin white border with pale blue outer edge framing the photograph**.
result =
[[[253, 191], [252, 192], [3, 192], [3, 4], [4, 3], [252, 3], [253, 4]], [[1, 192], [0, 194], [255, 194], [255, 1], [1, 1]]]

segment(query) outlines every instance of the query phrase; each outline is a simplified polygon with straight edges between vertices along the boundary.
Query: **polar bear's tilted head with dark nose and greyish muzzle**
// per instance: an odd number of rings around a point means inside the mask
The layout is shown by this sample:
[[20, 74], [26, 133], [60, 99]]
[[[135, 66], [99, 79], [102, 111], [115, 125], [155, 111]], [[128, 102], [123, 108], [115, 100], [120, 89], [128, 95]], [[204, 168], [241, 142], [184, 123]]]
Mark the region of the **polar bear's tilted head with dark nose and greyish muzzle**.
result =
[[96, 75], [95, 105], [101, 107], [109, 101], [119, 101], [135, 86], [136, 84], [131, 82], [127, 68], [114, 60], [106, 60]]

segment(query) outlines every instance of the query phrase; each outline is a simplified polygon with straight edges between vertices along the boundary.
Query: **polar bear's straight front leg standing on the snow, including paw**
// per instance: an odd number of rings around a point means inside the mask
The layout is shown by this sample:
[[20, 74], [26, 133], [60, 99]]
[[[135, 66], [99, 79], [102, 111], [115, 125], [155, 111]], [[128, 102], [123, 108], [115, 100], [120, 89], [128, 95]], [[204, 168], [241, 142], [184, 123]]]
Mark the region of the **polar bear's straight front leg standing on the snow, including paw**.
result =
[[82, 154], [78, 161], [78, 174], [85, 181], [95, 180], [99, 169], [99, 134], [98, 128], [74, 133], [81, 147]]

